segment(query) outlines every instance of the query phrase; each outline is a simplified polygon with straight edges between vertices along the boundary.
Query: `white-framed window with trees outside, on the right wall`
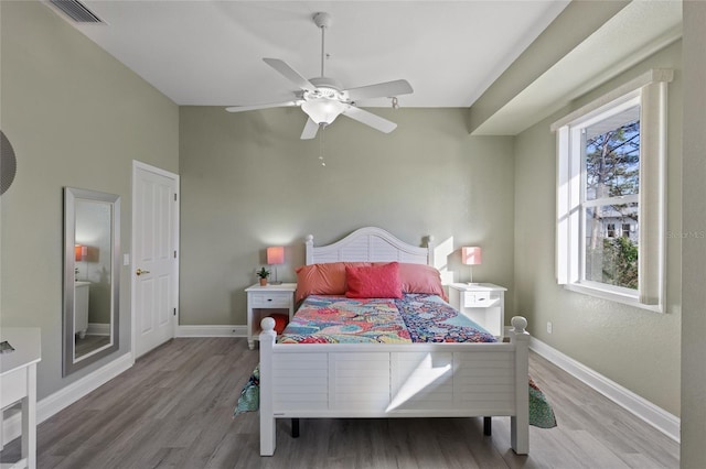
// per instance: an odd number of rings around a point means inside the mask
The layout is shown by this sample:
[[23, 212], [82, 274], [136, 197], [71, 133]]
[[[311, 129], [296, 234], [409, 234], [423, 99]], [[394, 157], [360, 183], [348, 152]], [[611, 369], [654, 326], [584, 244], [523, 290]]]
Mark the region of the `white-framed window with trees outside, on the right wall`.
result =
[[555, 122], [557, 281], [662, 310], [666, 83], [655, 69]]

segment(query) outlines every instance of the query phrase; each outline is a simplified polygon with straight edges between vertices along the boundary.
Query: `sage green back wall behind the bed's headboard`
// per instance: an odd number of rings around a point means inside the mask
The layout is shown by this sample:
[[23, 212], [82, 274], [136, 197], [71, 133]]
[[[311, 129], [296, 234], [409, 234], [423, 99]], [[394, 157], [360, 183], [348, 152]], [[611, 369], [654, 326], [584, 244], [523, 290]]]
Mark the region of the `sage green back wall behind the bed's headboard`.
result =
[[397, 129], [339, 117], [322, 167], [320, 140], [299, 140], [299, 109], [180, 109], [181, 324], [245, 324], [243, 290], [268, 246], [286, 247], [279, 277], [293, 281], [307, 234], [325, 244], [365, 226], [413, 244], [435, 236], [437, 264], [462, 281], [460, 248], [481, 246], [473, 279], [512, 291], [512, 138], [470, 137], [462, 109], [373, 111]]

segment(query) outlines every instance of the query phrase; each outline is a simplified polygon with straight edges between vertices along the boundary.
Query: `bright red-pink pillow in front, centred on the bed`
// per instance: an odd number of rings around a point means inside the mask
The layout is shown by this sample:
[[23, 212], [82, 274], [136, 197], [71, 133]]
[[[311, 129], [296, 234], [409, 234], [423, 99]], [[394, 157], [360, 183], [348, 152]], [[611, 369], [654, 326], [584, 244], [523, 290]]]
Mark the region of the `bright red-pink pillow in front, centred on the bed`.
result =
[[349, 298], [402, 298], [399, 264], [345, 268]]

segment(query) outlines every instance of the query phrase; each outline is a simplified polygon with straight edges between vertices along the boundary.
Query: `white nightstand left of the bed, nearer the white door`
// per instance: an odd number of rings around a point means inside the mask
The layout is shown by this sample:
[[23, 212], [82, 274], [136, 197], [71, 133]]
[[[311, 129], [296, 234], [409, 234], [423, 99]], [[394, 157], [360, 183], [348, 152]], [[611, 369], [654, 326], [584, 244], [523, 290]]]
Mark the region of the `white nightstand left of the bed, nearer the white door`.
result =
[[296, 283], [260, 286], [255, 284], [245, 288], [247, 293], [247, 346], [253, 350], [255, 340], [260, 337], [260, 320], [272, 314], [269, 309], [288, 309], [289, 319], [295, 315]]

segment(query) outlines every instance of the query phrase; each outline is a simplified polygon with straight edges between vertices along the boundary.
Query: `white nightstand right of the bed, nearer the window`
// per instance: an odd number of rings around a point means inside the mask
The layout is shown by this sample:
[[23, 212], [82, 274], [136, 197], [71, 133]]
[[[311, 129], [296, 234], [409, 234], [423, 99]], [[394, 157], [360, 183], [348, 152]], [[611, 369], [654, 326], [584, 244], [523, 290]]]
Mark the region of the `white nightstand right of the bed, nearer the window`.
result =
[[492, 283], [452, 283], [449, 285], [449, 303], [493, 336], [501, 337], [505, 326], [506, 291]]

